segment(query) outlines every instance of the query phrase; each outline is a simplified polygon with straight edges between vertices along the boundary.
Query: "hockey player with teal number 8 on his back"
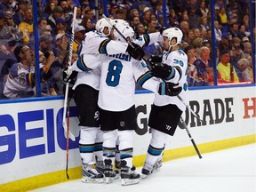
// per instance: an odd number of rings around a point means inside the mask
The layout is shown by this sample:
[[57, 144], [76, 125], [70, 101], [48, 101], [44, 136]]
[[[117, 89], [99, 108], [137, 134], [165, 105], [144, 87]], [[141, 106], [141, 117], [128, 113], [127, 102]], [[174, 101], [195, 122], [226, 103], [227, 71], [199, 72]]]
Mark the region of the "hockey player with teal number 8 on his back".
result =
[[[117, 29], [132, 41], [134, 31], [129, 26], [117, 26]], [[125, 42], [124, 38], [114, 30], [117, 41]], [[100, 76], [100, 129], [103, 131], [103, 159], [105, 163], [104, 175], [107, 182], [115, 175], [113, 164], [116, 151], [116, 140], [119, 139], [121, 158], [122, 185], [136, 184], [140, 181], [140, 174], [134, 172], [132, 166], [132, 133], [137, 128], [134, 105], [135, 81], [143, 88], [159, 94], [166, 84], [161, 84], [151, 75], [145, 63], [134, 60], [127, 53], [109, 54], [102, 56]], [[167, 86], [170, 84], [168, 83]], [[181, 88], [164, 92], [167, 95], [177, 95]]]

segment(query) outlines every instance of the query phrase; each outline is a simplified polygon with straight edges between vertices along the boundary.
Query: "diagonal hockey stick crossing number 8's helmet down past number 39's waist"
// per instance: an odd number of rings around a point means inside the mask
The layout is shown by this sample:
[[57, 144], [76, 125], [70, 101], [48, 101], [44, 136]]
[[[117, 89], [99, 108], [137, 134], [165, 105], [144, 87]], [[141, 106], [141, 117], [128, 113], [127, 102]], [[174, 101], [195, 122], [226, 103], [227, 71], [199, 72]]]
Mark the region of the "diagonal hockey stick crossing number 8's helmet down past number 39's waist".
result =
[[[122, 37], [124, 38], [124, 40], [126, 41], [126, 43], [127, 43], [127, 44], [130, 44], [130, 45], [132, 46], [132, 48], [134, 48], [133, 45], [132, 45], [129, 41], [127, 41], [127, 39], [125, 38], [125, 36], [118, 30], [118, 28], [116, 28], [116, 26], [115, 26], [113, 23], [111, 23], [110, 20], [108, 20], [108, 18], [106, 17], [106, 15], [103, 14], [102, 16], [104, 17], [105, 20], [108, 21], [108, 23], [112, 26], [112, 28], [114, 28], [114, 29], [116, 30], [116, 32], [117, 32], [120, 36], [122, 36]], [[148, 67], [148, 70], [151, 70], [151, 69], [152, 69], [152, 66], [150, 65], [150, 63], [148, 63], [148, 62], [146, 61], [146, 60], [149, 59], [149, 56], [150, 56], [150, 55], [146, 55], [146, 57], [148, 57], [148, 58], [146, 58], [146, 59], [145, 59], [145, 58], [142, 58], [142, 60], [145, 61], [146, 65], [147, 65], [147, 67]], [[164, 79], [162, 79], [162, 80], [164, 81]], [[196, 116], [196, 118], [198, 118], [198, 119], [203, 123], [203, 120], [200, 119], [200, 116], [199, 116], [198, 114], [196, 115], [195, 111], [193, 111], [193, 110], [188, 106], [188, 104], [187, 104], [184, 100], [182, 100], [182, 99], [180, 98], [180, 95], [177, 95], [177, 97], [178, 97], [178, 99], [186, 106], [186, 108], [188, 108], [188, 110], [191, 111], [191, 113], [192, 113], [194, 116]]]

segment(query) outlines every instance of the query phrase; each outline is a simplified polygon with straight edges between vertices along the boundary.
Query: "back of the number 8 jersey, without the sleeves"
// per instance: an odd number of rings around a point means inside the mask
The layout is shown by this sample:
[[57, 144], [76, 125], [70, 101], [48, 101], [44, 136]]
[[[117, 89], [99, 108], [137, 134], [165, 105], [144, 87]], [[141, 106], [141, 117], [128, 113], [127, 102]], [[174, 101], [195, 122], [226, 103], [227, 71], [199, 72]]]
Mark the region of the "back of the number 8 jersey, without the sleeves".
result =
[[103, 57], [100, 76], [100, 108], [124, 111], [134, 105], [135, 81], [132, 57], [113, 54]]

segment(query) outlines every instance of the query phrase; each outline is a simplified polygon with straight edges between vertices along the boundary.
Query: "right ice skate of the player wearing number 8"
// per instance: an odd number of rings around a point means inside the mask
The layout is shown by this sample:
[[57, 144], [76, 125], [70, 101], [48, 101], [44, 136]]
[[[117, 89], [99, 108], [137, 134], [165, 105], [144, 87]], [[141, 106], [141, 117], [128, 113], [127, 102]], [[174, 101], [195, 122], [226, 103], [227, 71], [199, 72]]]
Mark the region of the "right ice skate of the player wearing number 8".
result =
[[121, 162], [121, 184], [123, 186], [133, 185], [140, 182], [140, 174], [135, 172], [135, 167], [126, 166], [126, 162]]

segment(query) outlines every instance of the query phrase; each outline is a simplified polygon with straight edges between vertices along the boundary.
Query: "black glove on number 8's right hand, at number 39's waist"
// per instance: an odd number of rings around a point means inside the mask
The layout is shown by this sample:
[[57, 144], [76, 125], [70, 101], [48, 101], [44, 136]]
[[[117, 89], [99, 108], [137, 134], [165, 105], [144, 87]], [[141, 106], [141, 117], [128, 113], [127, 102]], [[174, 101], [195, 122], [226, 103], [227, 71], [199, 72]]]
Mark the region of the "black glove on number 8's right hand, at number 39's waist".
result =
[[168, 95], [171, 97], [177, 96], [182, 91], [182, 87], [178, 84], [173, 84], [171, 82], [162, 82], [159, 85], [158, 93], [160, 95]]

